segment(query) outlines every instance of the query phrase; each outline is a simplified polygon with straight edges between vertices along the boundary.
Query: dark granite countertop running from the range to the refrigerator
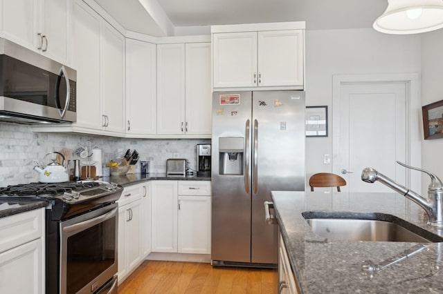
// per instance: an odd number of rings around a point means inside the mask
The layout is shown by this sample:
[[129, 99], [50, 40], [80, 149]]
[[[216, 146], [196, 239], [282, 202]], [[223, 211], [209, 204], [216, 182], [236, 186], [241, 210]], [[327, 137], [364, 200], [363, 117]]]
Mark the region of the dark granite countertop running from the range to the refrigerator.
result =
[[180, 176], [180, 175], [166, 175], [165, 173], [134, 173], [128, 175], [119, 175], [119, 176], [111, 176], [111, 177], [102, 177], [101, 180], [105, 182], [113, 182], [119, 184], [121, 186], [130, 186], [138, 183], [143, 183], [146, 181], [152, 180], [175, 180], [175, 181], [210, 181], [209, 177], [197, 176], [197, 175], [189, 175], [189, 176]]

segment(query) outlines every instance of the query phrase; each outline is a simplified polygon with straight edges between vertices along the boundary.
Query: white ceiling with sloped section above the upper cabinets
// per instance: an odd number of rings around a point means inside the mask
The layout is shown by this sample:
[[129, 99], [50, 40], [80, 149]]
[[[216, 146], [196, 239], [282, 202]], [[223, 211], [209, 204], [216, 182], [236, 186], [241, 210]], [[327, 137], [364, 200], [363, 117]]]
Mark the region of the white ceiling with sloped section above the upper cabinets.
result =
[[174, 35], [166, 28], [306, 21], [307, 30], [372, 28], [387, 0], [95, 0], [125, 29]]

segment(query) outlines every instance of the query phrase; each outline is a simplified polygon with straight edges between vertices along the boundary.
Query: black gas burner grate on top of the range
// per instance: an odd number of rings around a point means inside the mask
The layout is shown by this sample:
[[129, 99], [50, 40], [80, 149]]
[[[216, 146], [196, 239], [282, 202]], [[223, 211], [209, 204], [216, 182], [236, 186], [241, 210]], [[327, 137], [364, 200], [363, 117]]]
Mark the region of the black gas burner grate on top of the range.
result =
[[19, 197], [45, 197], [58, 195], [71, 190], [82, 190], [99, 186], [98, 182], [66, 182], [66, 183], [30, 183], [18, 184], [0, 188], [0, 195], [3, 196], [19, 196]]

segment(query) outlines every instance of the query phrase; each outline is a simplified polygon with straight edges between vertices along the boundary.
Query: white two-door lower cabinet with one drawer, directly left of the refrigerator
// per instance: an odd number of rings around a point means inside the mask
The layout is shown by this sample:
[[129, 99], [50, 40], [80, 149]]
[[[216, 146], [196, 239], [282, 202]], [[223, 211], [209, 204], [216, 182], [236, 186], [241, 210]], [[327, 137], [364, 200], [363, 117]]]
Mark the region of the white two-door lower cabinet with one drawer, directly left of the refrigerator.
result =
[[210, 182], [152, 182], [152, 252], [210, 254]]

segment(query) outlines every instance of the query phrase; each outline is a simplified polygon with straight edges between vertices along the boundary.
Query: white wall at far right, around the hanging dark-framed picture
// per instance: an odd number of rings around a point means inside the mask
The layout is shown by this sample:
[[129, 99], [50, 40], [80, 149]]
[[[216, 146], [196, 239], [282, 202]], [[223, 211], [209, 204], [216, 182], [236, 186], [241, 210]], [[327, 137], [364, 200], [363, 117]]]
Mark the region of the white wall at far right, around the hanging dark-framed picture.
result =
[[[422, 34], [422, 106], [443, 100], [443, 30]], [[423, 138], [423, 137], [422, 137]], [[443, 180], [443, 139], [422, 141], [422, 168]], [[429, 177], [422, 177], [427, 190]]]

